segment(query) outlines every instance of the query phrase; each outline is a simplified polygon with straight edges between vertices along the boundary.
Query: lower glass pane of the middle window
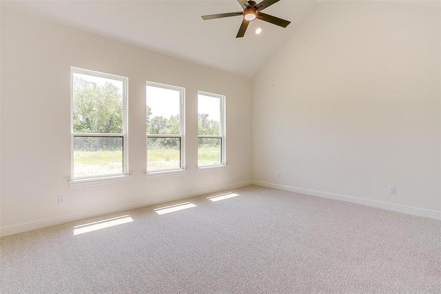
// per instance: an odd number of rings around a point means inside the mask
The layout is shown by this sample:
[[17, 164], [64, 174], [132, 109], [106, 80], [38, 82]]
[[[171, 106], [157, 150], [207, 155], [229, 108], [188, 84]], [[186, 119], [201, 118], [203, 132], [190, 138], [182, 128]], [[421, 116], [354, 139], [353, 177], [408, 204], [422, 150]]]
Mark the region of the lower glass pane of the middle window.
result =
[[181, 138], [147, 138], [147, 171], [181, 168]]

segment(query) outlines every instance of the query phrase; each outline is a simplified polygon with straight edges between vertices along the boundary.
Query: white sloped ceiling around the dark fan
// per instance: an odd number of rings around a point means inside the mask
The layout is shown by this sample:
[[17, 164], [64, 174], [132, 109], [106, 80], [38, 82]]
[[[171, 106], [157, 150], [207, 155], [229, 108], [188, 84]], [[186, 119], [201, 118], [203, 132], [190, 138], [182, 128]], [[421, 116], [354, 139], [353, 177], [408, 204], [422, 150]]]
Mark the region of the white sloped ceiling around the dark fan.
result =
[[[256, 1], [259, 2], [259, 1]], [[291, 21], [286, 28], [253, 21], [236, 39], [236, 0], [2, 1], [2, 5], [209, 67], [251, 77], [316, 8], [315, 0], [281, 0], [263, 12]], [[260, 35], [255, 29], [262, 27]]]

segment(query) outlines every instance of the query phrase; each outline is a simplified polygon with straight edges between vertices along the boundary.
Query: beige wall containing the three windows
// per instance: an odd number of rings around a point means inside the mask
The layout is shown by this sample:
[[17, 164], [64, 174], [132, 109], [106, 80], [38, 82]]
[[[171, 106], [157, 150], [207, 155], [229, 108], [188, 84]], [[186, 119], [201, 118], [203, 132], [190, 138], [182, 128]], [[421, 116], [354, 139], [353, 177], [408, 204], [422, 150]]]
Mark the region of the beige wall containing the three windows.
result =
[[[129, 78], [130, 181], [69, 188], [70, 66]], [[146, 80], [186, 88], [184, 175], [144, 178]], [[227, 97], [225, 170], [196, 172], [198, 90]], [[33, 228], [46, 226], [251, 180], [251, 90], [249, 79], [3, 8], [1, 227], [41, 220]], [[58, 195], [65, 204], [58, 205]]]

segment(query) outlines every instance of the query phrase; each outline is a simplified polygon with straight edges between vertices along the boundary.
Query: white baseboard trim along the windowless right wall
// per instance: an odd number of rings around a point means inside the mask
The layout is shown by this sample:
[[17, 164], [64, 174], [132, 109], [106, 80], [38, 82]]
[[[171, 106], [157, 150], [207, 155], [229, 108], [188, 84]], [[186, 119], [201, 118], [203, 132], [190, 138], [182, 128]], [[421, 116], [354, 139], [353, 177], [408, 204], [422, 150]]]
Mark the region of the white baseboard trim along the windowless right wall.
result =
[[352, 202], [356, 204], [361, 205], [367, 205], [372, 206], [376, 208], [382, 208], [387, 210], [392, 210], [396, 212], [402, 212], [407, 213], [419, 217], [425, 217], [435, 220], [441, 220], [441, 211], [437, 210], [431, 210], [431, 209], [425, 209], [425, 208], [419, 208], [419, 207], [413, 207], [408, 205], [402, 205], [402, 204], [396, 204], [396, 203], [390, 203], [390, 202], [384, 202], [384, 201], [378, 201], [378, 200], [372, 200], [372, 199], [366, 199], [366, 198], [360, 198], [360, 197], [354, 197], [354, 196], [348, 196], [348, 195], [340, 195], [335, 193], [328, 193], [323, 191], [316, 191], [311, 189], [304, 189], [304, 188], [296, 188], [291, 186], [284, 186], [279, 184], [273, 184], [273, 183], [266, 183], [266, 182], [260, 182], [260, 181], [252, 181], [253, 185], [262, 186], [262, 187], [268, 187], [268, 188], [274, 188], [284, 191], [290, 191], [290, 192], [296, 192], [300, 194], [306, 194], [311, 196], [318, 196], [318, 197], [324, 197], [328, 199], [335, 199], [335, 200], [342, 200], [347, 202]]

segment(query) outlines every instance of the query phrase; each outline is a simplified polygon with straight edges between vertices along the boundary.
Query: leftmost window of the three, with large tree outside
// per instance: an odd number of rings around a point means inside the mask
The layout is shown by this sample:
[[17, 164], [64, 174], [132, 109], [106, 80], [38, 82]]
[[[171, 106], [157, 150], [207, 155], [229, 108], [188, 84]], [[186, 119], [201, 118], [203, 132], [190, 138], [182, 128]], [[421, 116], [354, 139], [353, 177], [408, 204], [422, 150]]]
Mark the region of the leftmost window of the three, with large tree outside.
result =
[[127, 78], [70, 72], [72, 179], [127, 174]]

